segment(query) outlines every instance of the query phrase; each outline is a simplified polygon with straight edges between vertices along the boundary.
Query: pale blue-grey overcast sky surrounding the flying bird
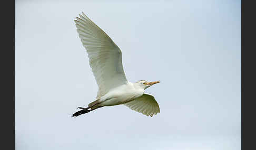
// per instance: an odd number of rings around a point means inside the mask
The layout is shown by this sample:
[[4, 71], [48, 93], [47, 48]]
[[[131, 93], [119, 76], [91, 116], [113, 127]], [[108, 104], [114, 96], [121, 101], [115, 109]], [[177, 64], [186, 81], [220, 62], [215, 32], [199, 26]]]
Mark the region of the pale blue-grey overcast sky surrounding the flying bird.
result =
[[[161, 113], [124, 105], [72, 118], [97, 84], [74, 19], [122, 50]], [[16, 149], [241, 149], [241, 1], [16, 0]]]

